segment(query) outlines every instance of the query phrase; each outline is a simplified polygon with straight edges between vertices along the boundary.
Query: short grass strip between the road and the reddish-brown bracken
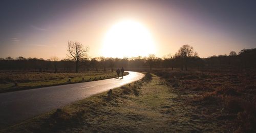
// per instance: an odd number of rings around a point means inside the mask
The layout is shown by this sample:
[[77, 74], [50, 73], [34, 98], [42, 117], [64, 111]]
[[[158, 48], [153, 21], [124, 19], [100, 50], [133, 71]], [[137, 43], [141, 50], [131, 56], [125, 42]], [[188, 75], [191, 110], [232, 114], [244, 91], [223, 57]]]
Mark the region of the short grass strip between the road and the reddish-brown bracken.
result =
[[195, 115], [196, 106], [160, 77], [101, 93], [3, 132], [227, 132], [216, 119]]

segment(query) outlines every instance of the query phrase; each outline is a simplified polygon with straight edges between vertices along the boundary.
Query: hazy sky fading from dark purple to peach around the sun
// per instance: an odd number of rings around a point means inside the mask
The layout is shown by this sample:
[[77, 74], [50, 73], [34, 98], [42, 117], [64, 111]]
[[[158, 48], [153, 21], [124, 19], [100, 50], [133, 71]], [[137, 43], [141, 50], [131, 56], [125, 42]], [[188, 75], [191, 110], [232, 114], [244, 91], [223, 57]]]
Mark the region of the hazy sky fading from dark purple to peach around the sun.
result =
[[[122, 20], [134, 20], [146, 29], [155, 46], [151, 53], [158, 57], [175, 54], [183, 45], [193, 46], [200, 57], [238, 53], [256, 47], [255, 6], [255, 1], [234, 0], [3, 0], [0, 57], [64, 59], [69, 40], [88, 46], [90, 57], [104, 56], [104, 38]], [[113, 49], [133, 51], [133, 47], [120, 44]], [[138, 48], [148, 51], [146, 44]]]

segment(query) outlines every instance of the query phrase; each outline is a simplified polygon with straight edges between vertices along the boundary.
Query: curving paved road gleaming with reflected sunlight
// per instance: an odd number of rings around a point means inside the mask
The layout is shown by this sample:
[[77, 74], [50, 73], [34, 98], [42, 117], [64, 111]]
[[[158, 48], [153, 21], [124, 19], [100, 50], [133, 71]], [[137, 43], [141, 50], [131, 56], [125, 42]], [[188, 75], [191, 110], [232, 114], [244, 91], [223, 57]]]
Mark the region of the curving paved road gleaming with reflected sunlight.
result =
[[0, 94], [0, 128], [14, 124], [68, 103], [87, 98], [141, 79], [144, 75], [129, 72], [123, 79], [112, 78]]

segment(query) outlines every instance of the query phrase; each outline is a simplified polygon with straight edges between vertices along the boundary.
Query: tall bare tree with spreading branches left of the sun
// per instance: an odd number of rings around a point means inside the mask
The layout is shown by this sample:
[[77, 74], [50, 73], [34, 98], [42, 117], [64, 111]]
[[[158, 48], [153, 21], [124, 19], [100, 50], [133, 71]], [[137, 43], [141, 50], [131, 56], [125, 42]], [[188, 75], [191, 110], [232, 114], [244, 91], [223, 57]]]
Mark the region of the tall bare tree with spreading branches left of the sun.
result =
[[68, 58], [76, 62], [76, 72], [78, 72], [79, 61], [87, 57], [89, 47], [83, 48], [82, 43], [79, 41], [68, 41], [67, 50], [69, 52]]

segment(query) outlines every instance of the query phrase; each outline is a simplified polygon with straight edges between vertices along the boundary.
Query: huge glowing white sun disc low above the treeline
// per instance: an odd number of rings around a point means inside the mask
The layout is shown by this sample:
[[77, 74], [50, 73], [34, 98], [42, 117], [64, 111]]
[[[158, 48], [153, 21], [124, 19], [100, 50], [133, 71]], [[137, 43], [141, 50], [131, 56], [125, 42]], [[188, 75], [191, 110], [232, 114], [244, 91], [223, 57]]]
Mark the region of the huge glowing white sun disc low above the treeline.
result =
[[155, 53], [153, 38], [143, 25], [134, 20], [122, 20], [105, 35], [104, 57], [136, 57]]

